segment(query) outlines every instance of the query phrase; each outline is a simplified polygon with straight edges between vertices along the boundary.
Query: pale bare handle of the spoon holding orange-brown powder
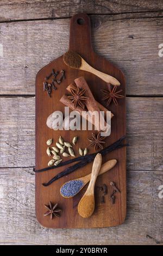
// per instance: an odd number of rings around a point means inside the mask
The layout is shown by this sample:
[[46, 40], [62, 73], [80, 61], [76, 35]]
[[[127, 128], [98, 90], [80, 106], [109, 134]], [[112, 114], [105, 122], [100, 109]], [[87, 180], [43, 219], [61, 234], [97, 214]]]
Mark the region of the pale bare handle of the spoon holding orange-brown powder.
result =
[[102, 155], [98, 153], [95, 157], [95, 160], [93, 161], [91, 180], [90, 180], [89, 186], [87, 187], [87, 192], [94, 191], [95, 182], [96, 182], [99, 170], [101, 168], [101, 163], [102, 163]]

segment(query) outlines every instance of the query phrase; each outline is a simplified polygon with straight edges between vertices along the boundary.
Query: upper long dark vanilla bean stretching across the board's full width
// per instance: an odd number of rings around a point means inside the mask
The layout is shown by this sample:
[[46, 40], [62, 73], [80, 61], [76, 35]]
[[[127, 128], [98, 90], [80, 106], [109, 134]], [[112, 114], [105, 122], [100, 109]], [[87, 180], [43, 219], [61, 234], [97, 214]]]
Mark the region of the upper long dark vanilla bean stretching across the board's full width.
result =
[[[121, 144], [122, 141], [125, 138], [126, 138], [126, 136], [121, 137], [120, 139], [118, 139], [118, 141], [114, 142], [113, 144], [111, 144], [108, 147], [100, 150], [97, 153], [100, 153], [100, 154], [102, 154], [102, 156], [104, 156], [104, 155], [106, 155], [107, 153], [109, 153], [112, 150], [115, 150], [115, 149], [127, 146], [127, 144]], [[83, 161], [84, 160], [88, 160], [88, 161], [91, 160], [92, 161], [95, 158], [95, 156], [97, 155], [97, 153], [93, 153], [93, 154], [89, 154], [89, 155], [85, 155], [85, 156], [79, 156], [79, 157], [76, 157], [75, 159], [71, 159], [71, 160], [68, 160], [68, 161], [65, 161], [65, 162], [61, 162], [58, 166], [46, 167], [46, 168], [43, 168], [43, 169], [40, 169], [40, 170], [35, 170], [34, 169], [34, 172], [41, 173], [41, 172], [45, 172], [46, 170], [55, 169], [55, 168], [58, 168], [58, 167], [61, 167], [61, 166], [65, 166], [65, 165], [73, 163], [73, 162], [82, 161], [82, 160]]]

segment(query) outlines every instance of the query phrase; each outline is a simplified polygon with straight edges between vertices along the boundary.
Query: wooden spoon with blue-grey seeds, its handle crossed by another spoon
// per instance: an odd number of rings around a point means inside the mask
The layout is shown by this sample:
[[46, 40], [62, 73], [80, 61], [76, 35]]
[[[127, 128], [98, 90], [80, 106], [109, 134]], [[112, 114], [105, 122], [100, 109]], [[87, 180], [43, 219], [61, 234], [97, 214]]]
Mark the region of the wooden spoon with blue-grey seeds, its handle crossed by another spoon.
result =
[[[98, 176], [105, 172], [108, 172], [108, 170], [112, 169], [116, 165], [116, 163], [117, 163], [117, 160], [112, 159], [112, 160], [102, 164], [101, 169], [99, 170]], [[64, 198], [71, 198], [71, 197], [76, 196], [76, 194], [78, 194], [80, 192], [80, 190], [82, 190], [82, 188], [90, 181], [90, 179], [91, 179], [91, 173], [87, 174], [86, 176], [83, 176], [81, 178], [73, 179], [73, 180], [69, 180], [69, 181], [65, 182], [60, 188], [61, 196]], [[73, 186], [76, 186], [77, 181], [81, 182], [81, 186], [79, 186], [78, 189], [74, 190]], [[70, 192], [68, 192], [69, 195], [65, 196], [65, 193], [67, 193], [67, 187], [68, 187], [68, 185], [70, 185], [70, 183], [71, 183], [72, 187], [70, 187]]]

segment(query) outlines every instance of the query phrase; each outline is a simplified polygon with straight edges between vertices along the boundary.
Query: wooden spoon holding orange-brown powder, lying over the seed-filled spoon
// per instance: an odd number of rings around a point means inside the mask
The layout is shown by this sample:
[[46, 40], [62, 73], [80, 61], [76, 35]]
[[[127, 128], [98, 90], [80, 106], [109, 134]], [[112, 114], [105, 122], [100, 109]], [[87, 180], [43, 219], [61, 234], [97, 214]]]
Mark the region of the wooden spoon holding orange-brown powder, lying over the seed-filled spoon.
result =
[[94, 195], [94, 189], [95, 189], [95, 182], [99, 173], [99, 169], [101, 168], [102, 163], [102, 155], [97, 154], [92, 166], [92, 173], [91, 173], [91, 180], [90, 184], [87, 187], [87, 190], [80, 200], [78, 204], [78, 213], [83, 218], [88, 218], [93, 214], [93, 211], [95, 210], [95, 195]]

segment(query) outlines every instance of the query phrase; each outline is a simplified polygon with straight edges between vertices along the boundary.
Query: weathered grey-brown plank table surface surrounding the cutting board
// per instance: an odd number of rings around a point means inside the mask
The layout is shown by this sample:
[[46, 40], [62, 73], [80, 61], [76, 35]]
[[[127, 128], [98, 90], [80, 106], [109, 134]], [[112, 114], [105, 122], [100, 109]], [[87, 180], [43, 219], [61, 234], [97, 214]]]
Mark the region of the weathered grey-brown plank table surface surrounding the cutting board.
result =
[[[90, 14], [95, 51], [127, 78], [127, 218], [52, 230], [35, 217], [35, 75], [67, 50], [79, 11]], [[14, 0], [0, 3], [0, 15], [0, 243], [163, 243], [163, 2]]]

